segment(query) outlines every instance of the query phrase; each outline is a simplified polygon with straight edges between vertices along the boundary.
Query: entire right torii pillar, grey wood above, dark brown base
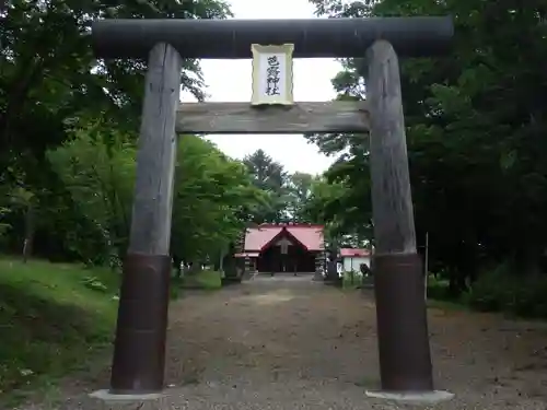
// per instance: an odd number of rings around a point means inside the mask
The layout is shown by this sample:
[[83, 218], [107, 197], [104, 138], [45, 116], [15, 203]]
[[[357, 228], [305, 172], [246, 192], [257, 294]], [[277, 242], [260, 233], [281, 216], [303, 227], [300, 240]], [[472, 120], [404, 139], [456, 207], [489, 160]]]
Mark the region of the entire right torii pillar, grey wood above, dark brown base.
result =
[[431, 391], [423, 271], [416, 251], [399, 65], [386, 40], [376, 40], [369, 48], [366, 60], [382, 389]]

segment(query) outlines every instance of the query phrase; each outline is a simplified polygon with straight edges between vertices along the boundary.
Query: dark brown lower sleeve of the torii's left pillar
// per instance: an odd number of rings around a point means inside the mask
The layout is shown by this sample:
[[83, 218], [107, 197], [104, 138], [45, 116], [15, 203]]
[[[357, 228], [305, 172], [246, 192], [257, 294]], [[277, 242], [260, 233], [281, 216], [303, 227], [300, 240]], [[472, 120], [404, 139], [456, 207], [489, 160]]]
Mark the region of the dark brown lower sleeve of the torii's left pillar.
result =
[[124, 261], [110, 378], [113, 394], [163, 389], [170, 273], [168, 255], [128, 254]]

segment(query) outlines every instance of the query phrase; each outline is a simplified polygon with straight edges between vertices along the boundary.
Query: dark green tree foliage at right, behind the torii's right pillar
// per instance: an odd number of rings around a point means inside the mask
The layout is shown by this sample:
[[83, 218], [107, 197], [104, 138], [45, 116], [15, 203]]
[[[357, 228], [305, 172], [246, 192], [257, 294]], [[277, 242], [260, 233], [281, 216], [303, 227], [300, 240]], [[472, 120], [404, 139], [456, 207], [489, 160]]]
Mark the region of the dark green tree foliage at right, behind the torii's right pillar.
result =
[[[516, 281], [545, 274], [545, 0], [312, 3], [329, 17], [454, 16], [451, 54], [400, 60], [417, 237], [429, 233], [431, 270], [451, 272], [456, 294], [500, 261], [517, 272]], [[362, 59], [342, 61], [333, 80], [338, 98], [365, 98], [365, 68]], [[337, 157], [326, 176], [346, 187], [325, 219], [370, 237], [369, 137], [309, 138]]]

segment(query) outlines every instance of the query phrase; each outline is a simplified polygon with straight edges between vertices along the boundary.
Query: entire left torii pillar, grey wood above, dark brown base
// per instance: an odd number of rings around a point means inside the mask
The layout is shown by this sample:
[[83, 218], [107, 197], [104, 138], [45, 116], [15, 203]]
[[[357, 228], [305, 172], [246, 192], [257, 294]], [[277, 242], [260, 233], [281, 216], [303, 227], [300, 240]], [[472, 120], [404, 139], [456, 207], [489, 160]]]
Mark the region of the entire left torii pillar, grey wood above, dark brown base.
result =
[[129, 249], [119, 300], [112, 394], [163, 389], [181, 70], [181, 56], [172, 46], [158, 44], [152, 48], [146, 78]]

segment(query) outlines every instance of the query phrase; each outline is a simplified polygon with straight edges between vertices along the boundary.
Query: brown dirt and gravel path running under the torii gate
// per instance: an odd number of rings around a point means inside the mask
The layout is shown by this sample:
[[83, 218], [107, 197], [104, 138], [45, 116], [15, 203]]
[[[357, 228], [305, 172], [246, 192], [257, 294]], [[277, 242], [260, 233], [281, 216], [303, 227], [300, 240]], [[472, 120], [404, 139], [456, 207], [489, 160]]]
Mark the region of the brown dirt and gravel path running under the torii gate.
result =
[[[547, 324], [442, 309], [429, 318], [435, 387], [456, 395], [435, 409], [547, 409]], [[142, 410], [412, 408], [364, 395], [379, 386], [372, 293], [256, 278], [188, 295], [170, 319], [167, 397]], [[85, 389], [107, 382], [104, 372]], [[58, 408], [101, 407], [82, 393]]]

